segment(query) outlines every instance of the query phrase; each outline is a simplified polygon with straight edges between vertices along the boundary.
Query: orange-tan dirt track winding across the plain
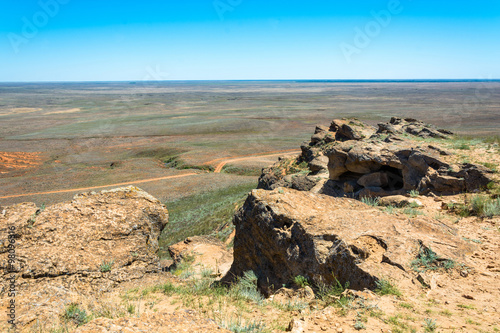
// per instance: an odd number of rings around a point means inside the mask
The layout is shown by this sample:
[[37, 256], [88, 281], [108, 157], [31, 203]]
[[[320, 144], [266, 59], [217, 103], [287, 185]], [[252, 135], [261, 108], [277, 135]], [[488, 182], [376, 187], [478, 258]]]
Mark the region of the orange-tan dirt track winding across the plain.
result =
[[[235, 156], [235, 157], [230, 157], [230, 158], [220, 158], [217, 160], [209, 161], [204, 163], [205, 165], [212, 164], [213, 162], [216, 161], [221, 161], [217, 166], [215, 167], [214, 173], [220, 173], [222, 171], [222, 168], [227, 163], [230, 162], [237, 162], [237, 161], [244, 161], [244, 160], [250, 160], [250, 159], [256, 159], [256, 158], [261, 158], [261, 157], [272, 157], [272, 156], [278, 156], [278, 155], [290, 155], [290, 154], [296, 154], [299, 153], [300, 151], [298, 150], [283, 150], [280, 152], [270, 152], [266, 154], [253, 154], [253, 155], [243, 155], [243, 156]], [[18, 198], [18, 197], [27, 197], [27, 196], [32, 196], [32, 195], [44, 195], [44, 194], [54, 194], [54, 193], [67, 193], [67, 192], [81, 192], [81, 191], [90, 191], [98, 188], [105, 188], [105, 187], [117, 187], [117, 186], [125, 186], [125, 185], [134, 185], [134, 184], [141, 184], [141, 183], [148, 183], [148, 182], [154, 182], [158, 180], [165, 180], [165, 179], [175, 179], [175, 178], [182, 178], [182, 177], [189, 177], [189, 176], [196, 176], [199, 175], [200, 173], [185, 173], [182, 175], [176, 175], [176, 176], [165, 176], [165, 177], [159, 177], [159, 178], [149, 178], [149, 179], [142, 179], [142, 180], [136, 180], [136, 181], [131, 181], [131, 182], [125, 182], [125, 183], [117, 183], [117, 184], [109, 184], [109, 185], [100, 185], [100, 186], [92, 186], [92, 187], [82, 187], [82, 188], [73, 188], [73, 189], [66, 189], [66, 190], [55, 190], [55, 191], [47, 191], [47, 192], [37, 192], [37, 193], [25, 193], [25, 194], [15, 194], [15, 195], [6, 195], [0, 197], [0, 199], [7, 199], [7, 198]]]

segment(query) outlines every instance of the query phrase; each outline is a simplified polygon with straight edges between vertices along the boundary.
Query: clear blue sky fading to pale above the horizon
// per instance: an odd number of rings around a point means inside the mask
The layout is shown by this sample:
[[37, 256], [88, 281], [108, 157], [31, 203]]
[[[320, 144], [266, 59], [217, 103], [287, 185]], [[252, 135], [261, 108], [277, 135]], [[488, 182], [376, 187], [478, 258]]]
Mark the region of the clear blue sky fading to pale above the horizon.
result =
[[500, 78], [500, 1], [397, 2], [2, 0], [0, 81]]

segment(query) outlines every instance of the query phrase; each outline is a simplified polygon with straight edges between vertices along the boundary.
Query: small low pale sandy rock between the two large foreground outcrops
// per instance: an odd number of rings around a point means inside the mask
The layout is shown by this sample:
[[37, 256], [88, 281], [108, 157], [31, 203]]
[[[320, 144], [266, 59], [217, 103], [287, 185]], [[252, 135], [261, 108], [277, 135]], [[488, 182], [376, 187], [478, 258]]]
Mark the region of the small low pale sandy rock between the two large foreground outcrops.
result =
[[185, 241], [171, 245], [168, 252], [174, 260], [174, 266], [191, 256], [191, 267], [195, 274], [204, 269], [210, 269], [215, 276], [223, 276], [233, 263], [233, 254], [227, 250], [224, 243], [215, 237], [195, 236]]

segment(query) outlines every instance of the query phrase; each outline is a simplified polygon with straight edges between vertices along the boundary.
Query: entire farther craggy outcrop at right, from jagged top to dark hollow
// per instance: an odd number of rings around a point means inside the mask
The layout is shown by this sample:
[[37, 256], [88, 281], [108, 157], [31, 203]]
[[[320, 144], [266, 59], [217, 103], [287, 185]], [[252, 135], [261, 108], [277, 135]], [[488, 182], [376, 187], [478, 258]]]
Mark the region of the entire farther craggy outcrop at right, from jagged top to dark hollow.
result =
[[452, 135], [449, 131], [396, 117], [378, 127], [347, 119], [334, 120], [329, 128], [317, 126], [311, 141], [301, 146], [299, 160], [307, 162], [308, 174], [280, 174], [271, 167], [264, 170], [259, 188], [285, 186], [358, 198], [411, 190], [422, 194], [472, 192], [492, 181], [488, 168], [447, 163], [442, 159], [448, 155], [445, 150], [416, 140], [438, 138], [445, 142]]

